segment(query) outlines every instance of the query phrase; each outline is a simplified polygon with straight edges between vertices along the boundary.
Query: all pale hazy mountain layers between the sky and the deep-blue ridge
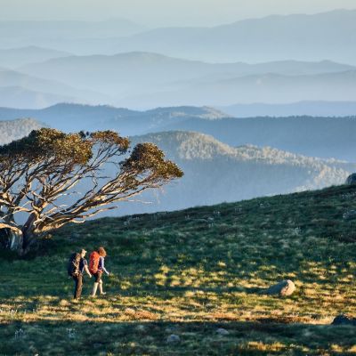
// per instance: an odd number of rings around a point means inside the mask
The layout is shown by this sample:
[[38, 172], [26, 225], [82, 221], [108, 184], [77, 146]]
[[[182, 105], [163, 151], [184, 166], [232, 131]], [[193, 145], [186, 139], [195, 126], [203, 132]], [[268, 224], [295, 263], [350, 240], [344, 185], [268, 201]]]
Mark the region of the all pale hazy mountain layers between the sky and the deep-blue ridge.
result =
[[[355, 23], [356, 11], [214, 28], [147, 29], [122, 19], [0, 21], [0, 87], [8, 92], [0, 105], [37, 109], [66, 101], [151, 109], [356, 101]], [[38, 85], [41, 80], [46, 85]]]

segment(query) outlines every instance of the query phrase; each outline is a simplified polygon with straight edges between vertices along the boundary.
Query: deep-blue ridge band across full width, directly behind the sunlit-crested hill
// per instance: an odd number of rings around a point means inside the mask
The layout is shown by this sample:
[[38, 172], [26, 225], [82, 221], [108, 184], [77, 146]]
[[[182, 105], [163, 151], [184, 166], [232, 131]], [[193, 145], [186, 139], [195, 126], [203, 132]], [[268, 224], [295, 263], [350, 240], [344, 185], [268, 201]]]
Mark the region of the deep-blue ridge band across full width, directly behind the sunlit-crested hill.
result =
[[231, 146], [270, 146], [310, 157], [356, 161], [356, 117], [229, 117], [202, 107], [148, 111], [58, 104], [46, 109], [0, 108], [0, 120], [34, 117], [63, 131], [117, 130], [123, 135], [195, 131]]

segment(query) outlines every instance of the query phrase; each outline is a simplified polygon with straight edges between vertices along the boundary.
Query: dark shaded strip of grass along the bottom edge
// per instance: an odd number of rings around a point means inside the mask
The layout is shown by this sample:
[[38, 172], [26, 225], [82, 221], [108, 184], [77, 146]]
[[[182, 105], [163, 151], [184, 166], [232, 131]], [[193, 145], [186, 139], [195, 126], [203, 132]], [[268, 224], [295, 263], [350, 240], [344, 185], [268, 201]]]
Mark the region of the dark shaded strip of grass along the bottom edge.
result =
[[[220, 330], [223, 328], [224, 330]], [[172, 334], [179, 340], [170, 343]], [[37, 321], [0, 325], [1, 354], [344, 354], [354, 327], [278, 322]], [[354, 351], [354, 350], [353, 350]], [[330, 352], [330, 353], [329, 353]]]

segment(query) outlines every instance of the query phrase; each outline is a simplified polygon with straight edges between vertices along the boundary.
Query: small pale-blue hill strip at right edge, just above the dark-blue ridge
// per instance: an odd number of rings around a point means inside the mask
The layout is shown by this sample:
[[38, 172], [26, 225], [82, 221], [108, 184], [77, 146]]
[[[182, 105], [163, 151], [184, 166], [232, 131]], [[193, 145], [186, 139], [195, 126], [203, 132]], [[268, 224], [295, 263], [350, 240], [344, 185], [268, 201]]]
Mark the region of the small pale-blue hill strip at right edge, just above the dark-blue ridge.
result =
[[356, 116], [356, 101], [298, 101], [287, 104], [235, 104], [222, 109], [232, 117], [350, 117]]

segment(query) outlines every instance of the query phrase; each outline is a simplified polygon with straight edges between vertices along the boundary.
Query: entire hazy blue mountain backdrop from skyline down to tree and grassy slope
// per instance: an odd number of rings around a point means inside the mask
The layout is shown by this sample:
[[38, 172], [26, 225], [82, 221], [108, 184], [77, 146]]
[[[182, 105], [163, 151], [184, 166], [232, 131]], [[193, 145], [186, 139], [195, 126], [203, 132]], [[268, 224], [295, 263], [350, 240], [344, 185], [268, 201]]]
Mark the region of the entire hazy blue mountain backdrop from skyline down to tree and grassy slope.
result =
[[158, 143], [182, 182], [119, 214], [340, 184], [356, 162], [355, 24], [352, 9], [0, 20], [0, 142], [47, 126]]

